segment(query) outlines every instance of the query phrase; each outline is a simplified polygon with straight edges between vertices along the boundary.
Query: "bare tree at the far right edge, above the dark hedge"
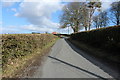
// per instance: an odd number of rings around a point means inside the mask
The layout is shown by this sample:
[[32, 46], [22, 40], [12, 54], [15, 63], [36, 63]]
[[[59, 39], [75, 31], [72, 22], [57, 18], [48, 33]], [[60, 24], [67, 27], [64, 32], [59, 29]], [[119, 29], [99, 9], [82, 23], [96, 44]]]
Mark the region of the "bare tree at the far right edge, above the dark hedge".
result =
[[111, 4], [111, 21], [115, 25], [120, 25], [120, 1]]

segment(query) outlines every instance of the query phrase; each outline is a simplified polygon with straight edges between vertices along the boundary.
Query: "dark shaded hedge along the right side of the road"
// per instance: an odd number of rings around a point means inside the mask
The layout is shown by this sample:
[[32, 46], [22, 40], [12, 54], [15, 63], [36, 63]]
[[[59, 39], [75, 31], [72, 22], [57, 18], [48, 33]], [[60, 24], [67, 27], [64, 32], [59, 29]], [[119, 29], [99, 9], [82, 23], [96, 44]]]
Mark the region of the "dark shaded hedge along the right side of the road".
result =
[[106, 51], [120, 52], [120, 26], [74, 33], [70, 38]]

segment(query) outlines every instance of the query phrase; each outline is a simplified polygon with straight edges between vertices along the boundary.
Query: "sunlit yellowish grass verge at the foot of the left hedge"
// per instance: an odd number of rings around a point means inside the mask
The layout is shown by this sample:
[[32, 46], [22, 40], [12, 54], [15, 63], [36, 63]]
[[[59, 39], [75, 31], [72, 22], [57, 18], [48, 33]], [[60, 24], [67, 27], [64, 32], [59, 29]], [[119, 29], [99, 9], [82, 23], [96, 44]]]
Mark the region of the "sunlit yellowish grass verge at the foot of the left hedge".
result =
[[[34, 35], [32, 35], [32, 37], [33, 36]], [[39, 40], [38, 39], [39, 37], [40, 37], [40, 35], [37, 36], [37, 42]], [[33, 38], [31, 40], [33, 40]], [[45, 39], [48, 38], [48, 36], [46, 36], [46, 38], [45, 38], [45, 36], [42, 36], [42, 38], [44, 38], [43, 40], [45, 40]], [[48, 39], [50, 39], [50, 38], [48, 38]], [[44, 45], [44, 46], [42, 46], [42, 48], [35, 46], [36, 48], [33, 49], [34, 51], [32, 53], [27, 54], [27, 55], [22, 56], [22, 57], [20, 56], [20, 57], [11, 59], [10, 62], [4, 64], [5, 67], [3, 66], [4, 68], [3, 68], [2, 77], [3, 78], [18, 78], [18, 77], [22, 77], [25, 69], [27, 67], [29, 67], [29, 66], [34, 66], [33, 64], [36, 62], [37, 59], [40, 59], [39, 60], [39, 62], [40, 62], [41, 61], [41, 57], [44, 56], [45, 53], [49, 52], [51, 46], [56, 42], [57, 39], [58, 39], [57, 37], [54, 37], [54, 39], [52, 39], [52, 41], [47, 40], [45, 44], [42, 43]]]

